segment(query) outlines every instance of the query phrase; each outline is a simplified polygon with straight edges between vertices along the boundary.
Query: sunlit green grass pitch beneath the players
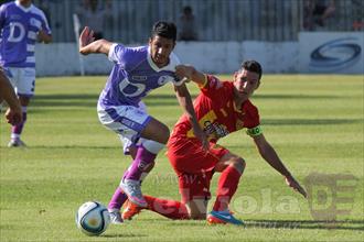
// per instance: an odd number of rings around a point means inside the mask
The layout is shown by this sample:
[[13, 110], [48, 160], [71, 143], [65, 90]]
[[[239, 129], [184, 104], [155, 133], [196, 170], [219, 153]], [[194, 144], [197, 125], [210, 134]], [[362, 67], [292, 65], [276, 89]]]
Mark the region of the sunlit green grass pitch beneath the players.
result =
[[[97, 119], [105, 79], [39, 78], [22, 136], [26, 148], [7, 147], [10, 127], [1, 113], [1, 242], [363, 241], [363, 76], [266, 75], [253, 98], [267, 140], [310, 190], [309, 200], [286, 186], [240, 131], [221, 144], [247, 162], [232, 204], [245, 227], [171, 221], [143, 211], [122, 226], [111, 224], [100, 237], [84, 235], [74, 221], [78, 206], [87, 200], [107, 205], [130, 164], [117, 135]], [[196, 88], [189, 87], [195, 96]], [[144, 101], [170, 128], [182, 112], [169, 85]], [[143, 193], [179, 199], [176, 177], [163, 153]]]

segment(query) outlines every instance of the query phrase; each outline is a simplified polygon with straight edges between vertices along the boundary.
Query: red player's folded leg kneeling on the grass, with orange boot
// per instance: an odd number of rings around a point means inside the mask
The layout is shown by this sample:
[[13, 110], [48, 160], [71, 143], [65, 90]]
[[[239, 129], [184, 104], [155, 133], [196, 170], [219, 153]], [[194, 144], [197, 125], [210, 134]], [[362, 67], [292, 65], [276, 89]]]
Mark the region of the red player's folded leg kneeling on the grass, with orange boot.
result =
[[[220, 158], [207, 154], [206, 160], [206, 152], [196, 139], [171, 139], [168, 157], [179, 176], [181, 201], [144, 196], [147, 209], [170, 219], [206, 219], [212, 169]], [[129, 204], [122, 217], [130, 219], [141, 209]]]

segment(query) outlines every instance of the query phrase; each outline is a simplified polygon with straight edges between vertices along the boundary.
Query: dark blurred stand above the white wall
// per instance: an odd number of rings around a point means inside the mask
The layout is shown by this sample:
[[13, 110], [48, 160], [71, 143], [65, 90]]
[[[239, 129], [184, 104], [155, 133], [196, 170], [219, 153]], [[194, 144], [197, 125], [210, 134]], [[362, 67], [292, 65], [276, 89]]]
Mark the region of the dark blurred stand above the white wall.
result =
[[[192, 10], [199, 41], [281, 42], [297, 41], [301, 31], [364, 30], [363, 0], [33, 0], [33, 3], [46, 13], [54, 42], [75, 41], [73, 13], [77, 13], [82, 25], [97, 22], [106, 38], [125, 44], [144, 43], [151, 25], [160, 19], [174, 21], [181, 28], [185, 7]], [[93, 4], [95, 13], [89, 14]], [[320, 20], [325, 8], [332, 8], [332, 12]]]

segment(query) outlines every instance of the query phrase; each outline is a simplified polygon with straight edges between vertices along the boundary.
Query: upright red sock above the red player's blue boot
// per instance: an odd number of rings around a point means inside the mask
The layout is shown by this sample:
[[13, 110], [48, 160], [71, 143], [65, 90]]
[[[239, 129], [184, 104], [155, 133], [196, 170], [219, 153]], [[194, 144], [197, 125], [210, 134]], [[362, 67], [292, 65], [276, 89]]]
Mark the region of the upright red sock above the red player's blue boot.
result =
[[228, 204], [234, 196], [242, 174], [233, 166], [227, 166], [218, 179], [216, 201], [214, 211], [224, 211], [228, 209]]

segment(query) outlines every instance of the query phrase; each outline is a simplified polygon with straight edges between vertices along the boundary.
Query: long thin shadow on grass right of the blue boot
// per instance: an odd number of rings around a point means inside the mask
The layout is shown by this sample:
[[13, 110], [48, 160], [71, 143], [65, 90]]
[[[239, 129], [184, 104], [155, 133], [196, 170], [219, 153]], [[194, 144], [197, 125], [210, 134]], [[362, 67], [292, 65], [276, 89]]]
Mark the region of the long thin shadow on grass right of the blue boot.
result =
[[246, 220], [245, 228], [364, 231], [364, 220]]

